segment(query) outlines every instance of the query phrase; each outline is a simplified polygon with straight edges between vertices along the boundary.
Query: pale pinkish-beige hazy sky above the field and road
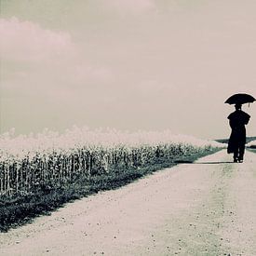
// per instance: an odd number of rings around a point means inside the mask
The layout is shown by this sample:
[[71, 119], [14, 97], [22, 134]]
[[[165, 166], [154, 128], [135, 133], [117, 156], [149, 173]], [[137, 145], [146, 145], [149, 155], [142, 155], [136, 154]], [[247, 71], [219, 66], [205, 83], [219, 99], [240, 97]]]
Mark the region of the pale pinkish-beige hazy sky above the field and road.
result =
[[[1, 132], [170, 129], [226, 138], [256, 97], [255, 0], [0, 0]], [[248, 135], [256, 136], [256, 102]]]

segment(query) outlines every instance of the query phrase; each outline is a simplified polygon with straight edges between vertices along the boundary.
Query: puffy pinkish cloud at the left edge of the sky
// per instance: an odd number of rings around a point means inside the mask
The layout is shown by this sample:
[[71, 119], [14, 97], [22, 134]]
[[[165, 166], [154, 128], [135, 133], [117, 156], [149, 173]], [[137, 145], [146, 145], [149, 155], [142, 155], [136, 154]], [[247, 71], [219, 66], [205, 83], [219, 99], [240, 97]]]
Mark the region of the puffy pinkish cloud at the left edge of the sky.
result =
[[15, 17], [0, 19], [0, 37], [1, 56], [8, 61], [40, 62], [74, 54], [70, 34], [43, 29]]

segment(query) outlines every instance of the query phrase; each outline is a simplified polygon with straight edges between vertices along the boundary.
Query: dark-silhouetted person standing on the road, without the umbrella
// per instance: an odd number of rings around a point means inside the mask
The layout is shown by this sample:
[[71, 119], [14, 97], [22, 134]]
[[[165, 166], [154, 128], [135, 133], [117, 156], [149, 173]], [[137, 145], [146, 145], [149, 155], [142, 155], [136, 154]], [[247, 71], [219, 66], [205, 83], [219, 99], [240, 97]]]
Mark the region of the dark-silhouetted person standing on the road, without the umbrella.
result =
[[232, 129], [228, 141], [228, 154], [234, 154], [234, 162], [243, 162], [246, 144], [246, 125], [249, 123], [249, 115], [242, 111], [242, 105], [235, 105], [236, 111], [228, 115], [229, 125]]

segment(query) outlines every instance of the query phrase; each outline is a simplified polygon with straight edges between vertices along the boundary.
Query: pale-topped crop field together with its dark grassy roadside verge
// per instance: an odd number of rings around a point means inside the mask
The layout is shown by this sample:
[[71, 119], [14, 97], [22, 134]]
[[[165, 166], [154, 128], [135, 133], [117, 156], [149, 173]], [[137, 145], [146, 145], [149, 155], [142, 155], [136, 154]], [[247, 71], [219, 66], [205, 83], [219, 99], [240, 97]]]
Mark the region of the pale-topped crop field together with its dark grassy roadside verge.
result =
[[0, 231], [223, 147], [170, 131], [72, 128], [0, 136]]

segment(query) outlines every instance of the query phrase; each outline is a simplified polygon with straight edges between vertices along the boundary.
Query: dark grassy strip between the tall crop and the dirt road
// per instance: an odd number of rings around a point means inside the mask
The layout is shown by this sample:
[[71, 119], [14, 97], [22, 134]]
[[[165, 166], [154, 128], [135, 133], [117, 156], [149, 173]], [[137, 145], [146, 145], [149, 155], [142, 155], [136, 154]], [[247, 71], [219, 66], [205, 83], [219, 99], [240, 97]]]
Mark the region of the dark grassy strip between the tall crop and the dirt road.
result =
[[155, 170], [170, 168], [179, 163], [192, 163], [199, 157], [217, 151], [218, 149], [193, 155], [182, 155], [172, 161], [159, 159], [154, 165], [148, 167], [115, 169], [107, 174], [83, 177], [76, 182], [64, 183], [50, 189], [40, 189], [31, 195], [12, 199], [0, 198], [0, 231], [7, 232], [11, 227], [31, 222], [34, 217], [50, 214], [51, 211], [75, 199], [121, 187]]

